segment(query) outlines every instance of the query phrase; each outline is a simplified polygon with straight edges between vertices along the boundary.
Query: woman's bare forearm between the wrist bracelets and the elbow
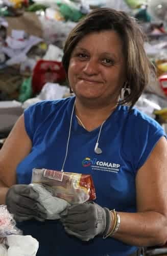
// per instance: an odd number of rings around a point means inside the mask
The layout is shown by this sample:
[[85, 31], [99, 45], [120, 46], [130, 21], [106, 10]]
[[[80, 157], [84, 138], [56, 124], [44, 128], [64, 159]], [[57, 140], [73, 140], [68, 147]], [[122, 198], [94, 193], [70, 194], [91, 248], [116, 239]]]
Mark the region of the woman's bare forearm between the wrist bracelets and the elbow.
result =
[[162, 245], [167, 240], [167, 219], [154, 212], [118, 212], [121, 224], [114, 238], [136, 246]]

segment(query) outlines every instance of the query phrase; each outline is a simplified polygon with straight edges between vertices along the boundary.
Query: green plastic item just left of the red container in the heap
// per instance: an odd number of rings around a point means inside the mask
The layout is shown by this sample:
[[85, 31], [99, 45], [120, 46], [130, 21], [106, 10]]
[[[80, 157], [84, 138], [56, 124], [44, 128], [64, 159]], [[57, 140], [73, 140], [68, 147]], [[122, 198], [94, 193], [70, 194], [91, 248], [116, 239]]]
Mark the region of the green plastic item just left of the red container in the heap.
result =
[[32, 97], [33, 90], [31, 86], [31, 81], [32, 81], [31, 77], [23, 80], [20, 87], [19, 96], [18, 96], [18, 100], [20, 102], [24, 102], [25, 100], [30, 99]]

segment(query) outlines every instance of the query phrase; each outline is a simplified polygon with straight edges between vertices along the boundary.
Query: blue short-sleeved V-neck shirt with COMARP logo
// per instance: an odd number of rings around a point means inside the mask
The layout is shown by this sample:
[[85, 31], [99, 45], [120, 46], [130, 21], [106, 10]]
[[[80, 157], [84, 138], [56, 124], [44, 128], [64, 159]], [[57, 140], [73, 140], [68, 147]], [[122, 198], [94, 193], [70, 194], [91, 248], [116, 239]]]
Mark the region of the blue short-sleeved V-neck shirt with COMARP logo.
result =
[[[75, 97], [41, 101], [25, 110], [25, 127], [32, 140], [31, 153], [17, 166], [17, 182], [31, 183], [32, 169], [61, 170], [66, 153], [70, 117]], [[135, 212], [135, 176], [155, 144], [165, 136], [162, 127], [137, 109], [117, 106], [102, 127], [88, 132], [72, 119], [64, 172], [91, 174], [96, 203], [116, 211]], [[136, 248], [114, 238], [89, 242], [68, 236], [60, 221], [27, 221], [19, 224], [25, 234], [39, 241], [37, 256], [126, 256]]]

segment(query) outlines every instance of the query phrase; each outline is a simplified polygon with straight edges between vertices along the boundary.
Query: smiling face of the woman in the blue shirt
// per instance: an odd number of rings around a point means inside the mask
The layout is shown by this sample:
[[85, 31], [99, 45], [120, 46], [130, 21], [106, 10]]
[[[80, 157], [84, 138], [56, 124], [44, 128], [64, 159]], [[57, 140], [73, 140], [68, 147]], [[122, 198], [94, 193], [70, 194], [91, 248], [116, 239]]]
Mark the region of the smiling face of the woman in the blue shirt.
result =
[[68, 80], [79, 99], [117, 101], [126, 80], [120, 36], [106, 30], [83, 37], [71, 54]]

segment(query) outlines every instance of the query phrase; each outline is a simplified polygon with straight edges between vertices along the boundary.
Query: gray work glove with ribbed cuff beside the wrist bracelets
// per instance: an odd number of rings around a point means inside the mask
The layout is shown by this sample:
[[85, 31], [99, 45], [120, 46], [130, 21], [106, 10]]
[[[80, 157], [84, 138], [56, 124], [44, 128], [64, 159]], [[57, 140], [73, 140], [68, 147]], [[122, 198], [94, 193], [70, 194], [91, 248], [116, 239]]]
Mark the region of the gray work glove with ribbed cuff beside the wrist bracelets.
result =
[[112, 217], [108, 208], [96, 203], [74, 204], [61, 219], [65, 231], [82, 241], [109, 233]]

